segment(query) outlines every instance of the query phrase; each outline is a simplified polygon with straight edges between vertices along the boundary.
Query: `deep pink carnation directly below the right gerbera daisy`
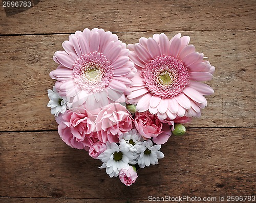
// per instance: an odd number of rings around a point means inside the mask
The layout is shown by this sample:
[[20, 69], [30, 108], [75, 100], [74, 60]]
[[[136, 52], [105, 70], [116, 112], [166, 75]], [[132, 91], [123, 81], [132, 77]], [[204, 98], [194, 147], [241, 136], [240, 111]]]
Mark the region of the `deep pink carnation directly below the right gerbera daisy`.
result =
[[171, 134], [168, 125], [162, 123], [156, 115], [149, 111], [136, 112], [134, 124], [144, 138], [153, 138], [156, 144], [164, 144]]

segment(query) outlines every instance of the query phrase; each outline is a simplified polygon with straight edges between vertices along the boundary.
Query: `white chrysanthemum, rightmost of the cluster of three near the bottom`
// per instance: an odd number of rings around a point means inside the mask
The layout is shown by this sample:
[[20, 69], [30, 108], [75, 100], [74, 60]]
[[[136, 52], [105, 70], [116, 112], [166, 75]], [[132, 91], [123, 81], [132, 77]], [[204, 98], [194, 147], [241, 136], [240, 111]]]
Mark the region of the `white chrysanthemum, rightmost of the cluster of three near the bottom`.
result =
[[158, 159], [162, 159], [164, 154], [159, 151], [161, 145], [154, 145], [151, 140], [143, 141], [142, 145], [137, 149], [140, 153], [138, 156], [138, 165], [140, 168], [150, 166], [151, 164], [158, 164]]

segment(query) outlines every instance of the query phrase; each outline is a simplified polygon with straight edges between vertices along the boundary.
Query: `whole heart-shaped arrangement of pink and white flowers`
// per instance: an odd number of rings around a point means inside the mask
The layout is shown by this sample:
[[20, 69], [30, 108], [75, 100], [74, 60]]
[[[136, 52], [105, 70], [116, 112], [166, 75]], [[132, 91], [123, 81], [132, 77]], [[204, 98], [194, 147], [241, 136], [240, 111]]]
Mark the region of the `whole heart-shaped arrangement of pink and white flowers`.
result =
[[182, 124], [200, 117], [204, 95], [214, 93], [201, 81], [215, 67], [189, 40], [161, 33], [126, 46], [103, 29], [71, 34], [53, 56], [59, 65], [50, 77], [57, 81], [48, 90], [61, 139], [101, 160], [110, 177], [133, 184], [137, 170], [158, 164], [161, 145], [184, 134]]

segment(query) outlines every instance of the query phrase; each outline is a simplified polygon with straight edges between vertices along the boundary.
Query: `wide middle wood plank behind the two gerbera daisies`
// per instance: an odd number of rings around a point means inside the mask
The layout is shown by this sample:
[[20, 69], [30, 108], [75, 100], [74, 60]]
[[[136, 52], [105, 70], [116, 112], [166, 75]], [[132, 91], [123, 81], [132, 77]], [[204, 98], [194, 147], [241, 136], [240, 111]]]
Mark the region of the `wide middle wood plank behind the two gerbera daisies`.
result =
[[[118, 33], [126, 43], [136, 43], [142, 36], [154, 32]], [[172, 37], [177, 32], [166, 32]], [[255, 31], [182, 32], [191, 36], [197, 51], [209, 57], [216, 73], [208, 82], [215, 94], [208, 96], [208, 106], [202, 118], [194, 119], [188, 127], [255, 126]], [[57, 124], [46, 107], [47, 89], [54, 80], [50, 71], [57, 64], [55, 51], [68, 35], [5, 36], [0, 37], [0, 130], [56, 129]]]

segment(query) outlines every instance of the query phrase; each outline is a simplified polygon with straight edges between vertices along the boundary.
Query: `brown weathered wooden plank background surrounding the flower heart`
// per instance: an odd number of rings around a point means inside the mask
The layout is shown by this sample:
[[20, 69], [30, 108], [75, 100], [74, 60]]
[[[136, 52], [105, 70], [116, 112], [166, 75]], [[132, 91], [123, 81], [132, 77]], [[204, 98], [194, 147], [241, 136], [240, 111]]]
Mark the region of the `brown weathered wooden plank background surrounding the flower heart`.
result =
[[[255, 195], [255, 0], [32, 1], [0, 8], [0, 202], [150, 202], [148, 196]], [[131, 187], [61, 141], [47, 89], [69, 34], [103, 28], [125, 43], [189, 35], [216, 66], [215, 94], [159, 165]], [[226, 200], [226, 199], [225, 199]]]

